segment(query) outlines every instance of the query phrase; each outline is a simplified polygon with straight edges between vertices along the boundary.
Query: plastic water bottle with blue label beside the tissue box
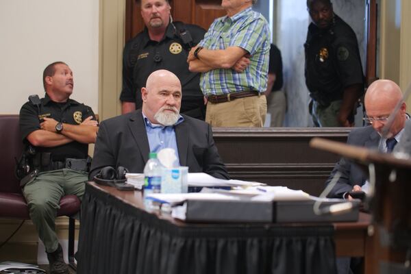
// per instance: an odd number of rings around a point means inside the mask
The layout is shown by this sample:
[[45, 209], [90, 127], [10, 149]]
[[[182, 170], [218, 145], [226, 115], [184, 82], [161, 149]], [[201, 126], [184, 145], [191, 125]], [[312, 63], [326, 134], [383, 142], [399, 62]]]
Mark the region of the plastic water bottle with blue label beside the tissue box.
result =
[[160, 193], [161, 180], [162, 164], [157, 158], [157, 153], [151, 152], [144, 167], [144, 203], [146, 210], [154, 209], [152, 200], [146, 197], [151, 193]]

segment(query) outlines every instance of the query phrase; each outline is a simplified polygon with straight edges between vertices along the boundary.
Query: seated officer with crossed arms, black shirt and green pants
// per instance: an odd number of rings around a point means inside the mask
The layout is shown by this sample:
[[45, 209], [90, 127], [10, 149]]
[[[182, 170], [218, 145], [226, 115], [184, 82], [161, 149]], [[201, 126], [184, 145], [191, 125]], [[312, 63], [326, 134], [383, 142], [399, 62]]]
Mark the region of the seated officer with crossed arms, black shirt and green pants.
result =
[[88, 175], [88, 144], [95, 142], [97, 121], [91, 108], [69, 99], [73, 73], [63, 62], [43, 73], [46, 95], [30, 96], [20, 110], [23, 143], [29, 149], [29, 175], [21, 180], [29, 214], [45, 244], [50, 273], [69, 273], [55, 234], [60, 198], [82, 199]]

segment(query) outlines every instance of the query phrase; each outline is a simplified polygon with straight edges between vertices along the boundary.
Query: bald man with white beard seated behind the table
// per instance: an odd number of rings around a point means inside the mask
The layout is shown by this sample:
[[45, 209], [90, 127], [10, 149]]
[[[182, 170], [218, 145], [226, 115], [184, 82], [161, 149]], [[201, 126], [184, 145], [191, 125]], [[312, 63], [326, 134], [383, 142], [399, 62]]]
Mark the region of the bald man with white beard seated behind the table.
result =
[[188, 171], [229, 179], [208, 123], [179, 114], [182, 85], [170, 71], [154, 71], [141, 88], [142, 108], [99, 127], [89, 178], [105, 166], [142, 173], [150, 152], [173, 148]]

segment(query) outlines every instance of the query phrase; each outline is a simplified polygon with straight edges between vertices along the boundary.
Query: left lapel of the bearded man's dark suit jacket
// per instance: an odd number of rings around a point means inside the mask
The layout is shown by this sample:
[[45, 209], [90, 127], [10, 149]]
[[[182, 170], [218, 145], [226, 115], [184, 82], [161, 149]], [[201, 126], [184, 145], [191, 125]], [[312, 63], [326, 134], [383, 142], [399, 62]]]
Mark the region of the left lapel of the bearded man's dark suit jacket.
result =
[[141, 110], [134, 112], [134, 115], [130, 116], [128, 126], [132, 132], [134, 140], [137, 146], [140, 148], [140, 153], [145, 162], [149, 160], [150, 146], [149, 139], [147, 138], [147, 132], [145, 129], [144, 119], [142, 119]]

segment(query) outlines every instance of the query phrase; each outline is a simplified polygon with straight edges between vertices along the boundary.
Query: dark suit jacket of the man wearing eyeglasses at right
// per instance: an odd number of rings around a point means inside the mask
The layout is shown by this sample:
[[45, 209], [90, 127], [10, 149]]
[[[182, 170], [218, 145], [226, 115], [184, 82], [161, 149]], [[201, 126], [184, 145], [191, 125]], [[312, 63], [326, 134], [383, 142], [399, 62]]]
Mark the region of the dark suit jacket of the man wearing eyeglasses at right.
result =
[[[377, 149], [379, 138], [379, 134], [369, 125], [353, 129], [348, 136], [347, 144]], [[337, 171], [340, 171], [341, 177], [327, 197], [342, 198], [345, 192], [353, 189], [353, 186], [356, 184], [362, 186], [366, 179], [368, 179], [357, 164], [346, 158], [341, 158], [336, 166], [334, 166], [331, 175], [325, 183], [326, 185], [331, 182]]]

